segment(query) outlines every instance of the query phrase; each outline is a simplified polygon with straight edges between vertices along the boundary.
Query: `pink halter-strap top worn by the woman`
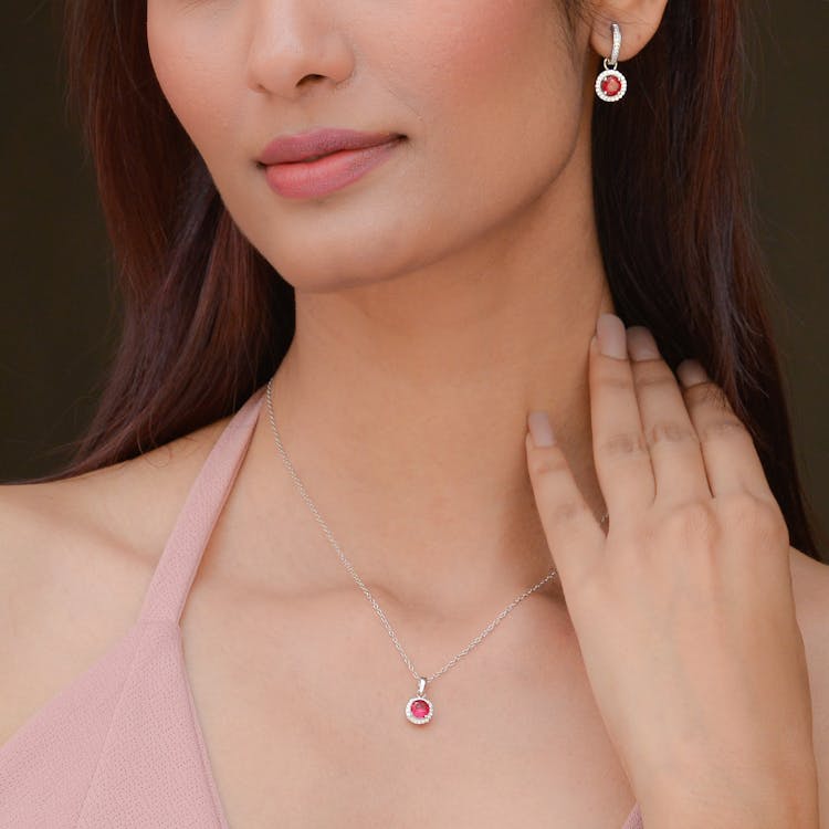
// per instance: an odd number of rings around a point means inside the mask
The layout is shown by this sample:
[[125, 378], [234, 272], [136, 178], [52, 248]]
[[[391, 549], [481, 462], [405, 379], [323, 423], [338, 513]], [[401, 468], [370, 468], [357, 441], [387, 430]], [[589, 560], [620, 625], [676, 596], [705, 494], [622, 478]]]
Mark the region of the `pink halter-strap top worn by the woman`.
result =
[[[0, 747], [1, 829], [230, 829], [179, 619], [263, 398], [261, 387], [211, 449], [133, 627]], [[642, 829], [638, 804], [622, 829]]]

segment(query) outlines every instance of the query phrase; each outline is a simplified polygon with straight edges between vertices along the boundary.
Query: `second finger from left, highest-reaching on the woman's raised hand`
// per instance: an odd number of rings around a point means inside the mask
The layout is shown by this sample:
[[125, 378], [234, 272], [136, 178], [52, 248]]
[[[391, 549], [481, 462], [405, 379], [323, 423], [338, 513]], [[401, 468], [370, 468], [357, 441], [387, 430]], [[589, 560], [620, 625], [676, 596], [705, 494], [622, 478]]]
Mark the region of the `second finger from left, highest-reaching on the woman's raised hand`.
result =
[[590, 343], [590, 423], [596, 475], [610, 523], [653, 503], [655, 483], [628, 360], [625, 324], [601, 314]]

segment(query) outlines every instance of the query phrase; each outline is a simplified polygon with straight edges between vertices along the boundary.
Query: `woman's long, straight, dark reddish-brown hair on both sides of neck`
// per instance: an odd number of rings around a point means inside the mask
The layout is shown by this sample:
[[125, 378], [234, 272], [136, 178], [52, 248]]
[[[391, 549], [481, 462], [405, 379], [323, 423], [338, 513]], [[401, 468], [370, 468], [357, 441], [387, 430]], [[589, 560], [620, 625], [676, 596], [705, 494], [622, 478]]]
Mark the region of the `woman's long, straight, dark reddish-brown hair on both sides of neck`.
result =
[[[571, 17], [579, 0], [566, 0]], [[791, 544], [818, 553], [798, 476], [745, 162], [739, 0], [669, 0], [595, 102], [594, 191], [616, 308], [672, 368], [697, 357], [752, 432]], [[571, 22], [571, 20], [570, 20]], [[57, 480], [135, 457], [233, 411], [294, 335], [293, 287], [242, 237], [153, 71], [146, 4], [72, 0], [69, 88], [97, 170], [124, 302], [97, 412]], [[125, 153], [128, 148], [128, 153]]]

